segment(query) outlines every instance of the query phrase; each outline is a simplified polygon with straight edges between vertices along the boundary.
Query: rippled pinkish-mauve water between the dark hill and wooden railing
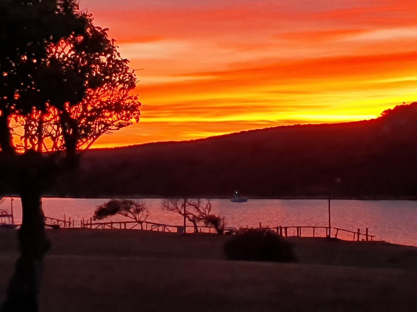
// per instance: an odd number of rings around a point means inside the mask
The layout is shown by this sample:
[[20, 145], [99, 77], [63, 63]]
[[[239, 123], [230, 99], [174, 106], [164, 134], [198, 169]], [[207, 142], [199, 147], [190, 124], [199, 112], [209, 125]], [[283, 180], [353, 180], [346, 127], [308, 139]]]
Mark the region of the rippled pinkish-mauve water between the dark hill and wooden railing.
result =
[[[148, 221], [181, 225], [183, 219], [161, 209], [162, 199], [144, 199], [151, 207]], [[75, 219], [75, 225], [82, 218], [93, 216], [97, 205], [106, 199], [73, 199], [73, 198], [43, 198], [45, 215], [52, 218]], [[327, 226], [327, 200], [276, 200], [250, 199], [246, 203], [232, 203], [226, 199], [211, 200], [213, 213], [226, 217], [228, 226], [234, 227], [276, 227], [277, 225], [316, 225]], [[10, 198], [0, 204], [2, 208], [10, 207]], [[20, 199], [13, 201], [16, 223], [21, 220]], [[122, 216], [108, 219], [113, 221], [128, 220]], [[357, 231], [369, 228], [369, 234], [375, 235], [376, 240], [390, 243], [417, 246], [417, 201], [332, 201], [332, 227]], [[305, 230], [305, 235], [311, 235], [311, 230]], [[289, 235], [294, 235], [295, 229], [289, 229]], [[324, 235], [317, 230], [316, 234]], [[334, 235], [334, 232], [333, 232]], [[353, 234], [338, 235], [340, 238], [352, 239]]]

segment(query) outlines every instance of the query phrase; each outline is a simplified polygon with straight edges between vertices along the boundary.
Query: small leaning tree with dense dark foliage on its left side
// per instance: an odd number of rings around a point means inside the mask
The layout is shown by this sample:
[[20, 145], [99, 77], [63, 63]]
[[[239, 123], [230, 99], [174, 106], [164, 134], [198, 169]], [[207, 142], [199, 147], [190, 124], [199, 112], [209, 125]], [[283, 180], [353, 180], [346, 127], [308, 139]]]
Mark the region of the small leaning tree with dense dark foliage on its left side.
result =
[[131, 199], [111, 199], [107, 203], [100, 205], [94, 211], [94, 218], [101, 220], [111, 215], [123, 215], [131, 218], [141, 225], [151, 214], [148, 206], [143, 201], [133, 201]]

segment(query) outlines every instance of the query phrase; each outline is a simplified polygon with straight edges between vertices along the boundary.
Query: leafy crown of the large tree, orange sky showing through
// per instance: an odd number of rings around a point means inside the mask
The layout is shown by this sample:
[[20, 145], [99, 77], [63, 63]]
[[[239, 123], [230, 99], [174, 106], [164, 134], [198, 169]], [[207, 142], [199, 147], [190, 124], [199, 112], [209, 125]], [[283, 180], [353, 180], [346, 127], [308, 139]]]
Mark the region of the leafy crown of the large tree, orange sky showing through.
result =
[[0, 4], [0, 146], [85, 149], [139, 119], [136, 77], [74, 0]]

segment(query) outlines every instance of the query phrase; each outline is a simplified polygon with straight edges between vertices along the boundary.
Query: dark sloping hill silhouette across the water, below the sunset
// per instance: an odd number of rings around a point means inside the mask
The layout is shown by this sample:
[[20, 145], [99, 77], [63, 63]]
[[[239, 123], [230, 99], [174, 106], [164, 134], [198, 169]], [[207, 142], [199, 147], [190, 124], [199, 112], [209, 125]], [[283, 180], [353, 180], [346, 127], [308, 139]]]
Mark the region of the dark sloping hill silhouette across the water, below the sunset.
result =
[[[417, 196], [417, 102], [377, 119], [85, 152], [64, 196]], [[335, 178], [341, 179], [335, 183]]]

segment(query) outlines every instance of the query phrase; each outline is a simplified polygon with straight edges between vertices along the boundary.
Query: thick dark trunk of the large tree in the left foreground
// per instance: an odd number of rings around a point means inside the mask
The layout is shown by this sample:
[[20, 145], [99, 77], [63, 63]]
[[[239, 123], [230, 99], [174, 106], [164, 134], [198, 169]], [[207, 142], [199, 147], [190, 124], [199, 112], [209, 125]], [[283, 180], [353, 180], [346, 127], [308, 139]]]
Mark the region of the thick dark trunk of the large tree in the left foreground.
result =
[[[38, 311], [43, 258], [50, 242], [46, 238], [45, 218], [37, 183], [25, 184], [27, 187], [20, 192], [23, 212], [22, 226], [18, 233], [20, 258], [16, 261], [15, 272], [10, 280], [7, 299], [1, 312]], [[30, 186], [32, 188], [29, 188]]]

